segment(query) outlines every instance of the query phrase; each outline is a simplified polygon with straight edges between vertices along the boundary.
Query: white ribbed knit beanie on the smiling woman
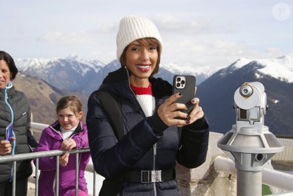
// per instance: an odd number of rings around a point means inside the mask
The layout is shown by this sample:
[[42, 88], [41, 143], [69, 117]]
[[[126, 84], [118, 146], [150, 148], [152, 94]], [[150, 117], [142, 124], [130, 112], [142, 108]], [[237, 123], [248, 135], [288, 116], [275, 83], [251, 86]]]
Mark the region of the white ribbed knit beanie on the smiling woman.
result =
[[161, 35], [152, 21], [147, 18], [133, 15], [122, 18], [116, 37], [118, 61], [120, 61], [120, 57], [124, 49], [131, 42], [144, 37], [156, 38], [160, 43], [161, 53], [163, 52], [163, 42]]

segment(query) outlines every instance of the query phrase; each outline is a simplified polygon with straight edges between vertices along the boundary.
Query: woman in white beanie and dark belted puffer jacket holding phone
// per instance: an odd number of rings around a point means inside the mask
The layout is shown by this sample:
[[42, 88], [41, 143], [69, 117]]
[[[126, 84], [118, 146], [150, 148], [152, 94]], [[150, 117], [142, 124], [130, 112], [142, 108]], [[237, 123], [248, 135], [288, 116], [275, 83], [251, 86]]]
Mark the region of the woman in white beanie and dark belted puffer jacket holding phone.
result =
[[175, 111], [186, 109], [173, 103], [182, 94], [172, 95], [172, 86], [154, 77], [162, 50], [161, 36], [150, 20], [127, 16], [120, 21], [117, 58], [121, 68], [108, 74], [99, 91], [119, 97], [121, 111], [117, 113], [122, 113], [123, 128], [118, 131], [123, 138], [115, 136], [108, 108], [96, 92], [88, 99], [86, 115], [93, 166], [106, 178], [100, 195], [180, 195], [175, 160], [188, 168], [206, 160], [209, 126], [199, 98], [190, 100], [189, 115]]

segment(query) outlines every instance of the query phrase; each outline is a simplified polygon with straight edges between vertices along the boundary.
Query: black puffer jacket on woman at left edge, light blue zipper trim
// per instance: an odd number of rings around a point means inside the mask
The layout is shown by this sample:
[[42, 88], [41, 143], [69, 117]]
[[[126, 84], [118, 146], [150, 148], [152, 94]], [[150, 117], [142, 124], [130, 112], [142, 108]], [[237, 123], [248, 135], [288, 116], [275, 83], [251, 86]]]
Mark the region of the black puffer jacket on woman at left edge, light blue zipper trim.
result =
[[[10, 87], [0, 89], [0, 140], [4, 140], [5, 129], [12, 121], [11, 106], [14, 114], [13, 132], [16, 140], [13, 142], [11, 154], [31, 152], [31, 147], [35, 147], [37, 142], [30, 132], [30, 108], [27, 97], [23, 92]], [[7, 96], [7, 102], [5, 101]], [[29, 143], [31, 147], [29, 146]], [[16, 177], [22, 179], [32, 174], [31, 160], [18, 161], [16, 163]], [[12, 162], [0, 164], [0, 183], [8, 182], [11, 179]]]

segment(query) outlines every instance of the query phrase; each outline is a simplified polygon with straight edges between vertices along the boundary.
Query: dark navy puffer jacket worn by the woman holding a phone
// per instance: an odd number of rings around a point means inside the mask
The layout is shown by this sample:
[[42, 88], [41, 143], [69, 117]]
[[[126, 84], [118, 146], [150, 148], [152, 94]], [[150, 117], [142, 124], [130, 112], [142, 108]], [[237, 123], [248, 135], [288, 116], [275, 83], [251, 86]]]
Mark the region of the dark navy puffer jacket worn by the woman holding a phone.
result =
[[[171, 95], [172, 87], [162, 79], [153, 78], [150, 82], [158, 108], [164, 97]], [[175, 167], [175, 160], [188, 168], [196, 168], [205, 162], [209, 138], [205, 117], [197, 122], [201, 124], [200, 130], [194, 130], [197, 125], [182, 128], [179, 144], [176, 126], [168, 127], [163, 136], [154, 134], [130, 88], [125, 67], [109, 73], [100, 89], [121, 96], [124, 137], [118, 143], [99, 97], [91, 94], [86, 124], [92, 162], [97, 173], [106, 179], [113, 179], [128, 171], [170, 170]], [[124, 182], [120, 195], [172, 196], [180, 193], [176, 181], [171, 179], [154, 183]]]

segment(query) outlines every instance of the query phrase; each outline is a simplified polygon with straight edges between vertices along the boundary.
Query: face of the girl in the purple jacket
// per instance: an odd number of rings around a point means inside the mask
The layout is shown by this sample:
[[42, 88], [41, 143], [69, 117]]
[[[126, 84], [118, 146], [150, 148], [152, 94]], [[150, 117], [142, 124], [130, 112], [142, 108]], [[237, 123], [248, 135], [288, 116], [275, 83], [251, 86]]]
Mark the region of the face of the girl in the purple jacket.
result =
[[71, 111], [69, 107], [60, 109], [57, 113], [58, 121], [64, 130], [71, 130], [77, 127], [82, 117], [83, 112], [80, 111], [77, 115]]

